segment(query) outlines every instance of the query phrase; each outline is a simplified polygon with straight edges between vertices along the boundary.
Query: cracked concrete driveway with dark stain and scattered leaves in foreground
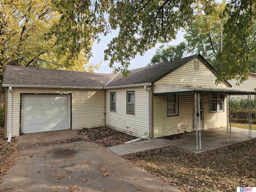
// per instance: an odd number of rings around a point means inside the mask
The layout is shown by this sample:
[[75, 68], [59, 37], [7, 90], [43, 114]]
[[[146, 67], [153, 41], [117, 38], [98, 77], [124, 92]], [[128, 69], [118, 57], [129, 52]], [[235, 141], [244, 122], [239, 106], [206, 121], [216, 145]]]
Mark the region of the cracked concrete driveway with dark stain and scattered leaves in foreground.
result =
[[0, 189], [54, 192], [71, 191], [70, 186], [76, 186], [78, 192], [179, 192], [92, 142], [29, 147], [20, 151], [15, 162], [3, 176]]

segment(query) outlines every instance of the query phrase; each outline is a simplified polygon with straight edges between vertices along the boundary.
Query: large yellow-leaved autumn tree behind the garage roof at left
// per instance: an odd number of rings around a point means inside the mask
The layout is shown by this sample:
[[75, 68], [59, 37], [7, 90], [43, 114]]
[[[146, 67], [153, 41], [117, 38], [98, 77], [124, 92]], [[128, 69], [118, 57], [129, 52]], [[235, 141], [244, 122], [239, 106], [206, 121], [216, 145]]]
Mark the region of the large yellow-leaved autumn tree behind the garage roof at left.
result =
[[[6, 65], [89, 72], [98, 68], [98, 65], [88, 64], [94, 39], [89, 37], [85, 44], [85, 36], [80, 34], [84, 32], [81, 28], [74, 30], [75, 26], [66, 27], [71, 18], [67, 18], [64, 14], [60, 6], [61, 2], [0, 1], [0, 68], [2, 70]], [[72, 7], [65, 8], [72, 10]], [[84, 25], [81, 24], [83, 20], [80, 18], [72, 19], [79, 21], [77, 26]], [[87, 33], [92, 34], [91, 31]], [[2, 75], [3, 71], [0, 75], [1, 80]]]

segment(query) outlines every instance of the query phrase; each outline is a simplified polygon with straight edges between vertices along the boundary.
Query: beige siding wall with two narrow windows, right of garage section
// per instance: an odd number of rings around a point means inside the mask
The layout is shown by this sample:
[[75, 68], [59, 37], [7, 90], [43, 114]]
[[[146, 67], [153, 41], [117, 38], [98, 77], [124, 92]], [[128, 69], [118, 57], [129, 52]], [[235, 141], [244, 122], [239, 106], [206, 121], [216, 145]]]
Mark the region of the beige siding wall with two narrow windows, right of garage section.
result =
[[[148, 87], [150, 88], [150, 87]], [[135, 93], [135, 114], [126, 114], [126, 92]], [[110, 92], [116, 92], [116, 112], [110, 111]], [[141, 137], [147, 132], [147, 92], [144, 87], [106, 90], [106, 126]]]

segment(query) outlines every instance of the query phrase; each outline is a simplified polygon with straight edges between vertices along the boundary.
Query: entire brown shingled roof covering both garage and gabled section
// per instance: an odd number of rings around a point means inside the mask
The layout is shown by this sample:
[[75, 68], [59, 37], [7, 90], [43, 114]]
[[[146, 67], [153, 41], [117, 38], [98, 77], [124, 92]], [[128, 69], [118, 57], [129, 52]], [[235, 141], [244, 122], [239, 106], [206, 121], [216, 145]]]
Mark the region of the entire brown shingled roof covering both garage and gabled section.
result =
[[[130, 74], [126, 78], [123, 77], [122, 73], [100, 74], [8, 65], [4, 74], [3, 86], [26, 85], [108, 88], [122, 85], [154, 83], [196, 57], [202, 59], [215, 72], [214, 68], [200, 54], [130, 70]], [[229, 84], [227, 81], [225, 82]]]

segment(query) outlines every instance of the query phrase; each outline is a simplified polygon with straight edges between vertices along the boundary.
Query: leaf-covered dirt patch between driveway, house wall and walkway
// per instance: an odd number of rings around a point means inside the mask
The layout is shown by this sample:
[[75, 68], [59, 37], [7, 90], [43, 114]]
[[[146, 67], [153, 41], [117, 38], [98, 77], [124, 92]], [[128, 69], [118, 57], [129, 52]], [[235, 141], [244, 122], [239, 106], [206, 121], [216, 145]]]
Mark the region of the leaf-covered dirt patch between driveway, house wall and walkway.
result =
[[82, 138], [84, 140], [92, 141], [105, 147], [121, 145], [126, 141], [136, 139], [134, 136], [108, 127], [84, 128], [78, 130], [78, 132], [82, 134]]

